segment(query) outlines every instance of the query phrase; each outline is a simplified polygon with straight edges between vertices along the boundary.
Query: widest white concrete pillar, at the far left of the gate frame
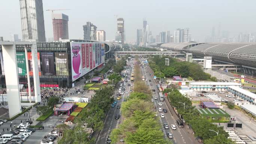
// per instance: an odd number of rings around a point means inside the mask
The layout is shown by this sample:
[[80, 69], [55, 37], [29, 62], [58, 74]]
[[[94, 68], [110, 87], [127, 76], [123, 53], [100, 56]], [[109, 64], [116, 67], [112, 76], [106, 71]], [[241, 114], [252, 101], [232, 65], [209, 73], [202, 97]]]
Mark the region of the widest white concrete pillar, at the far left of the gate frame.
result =
[[15, 45], [2, 45], [9, 117], [21, 112], [18, 66]]

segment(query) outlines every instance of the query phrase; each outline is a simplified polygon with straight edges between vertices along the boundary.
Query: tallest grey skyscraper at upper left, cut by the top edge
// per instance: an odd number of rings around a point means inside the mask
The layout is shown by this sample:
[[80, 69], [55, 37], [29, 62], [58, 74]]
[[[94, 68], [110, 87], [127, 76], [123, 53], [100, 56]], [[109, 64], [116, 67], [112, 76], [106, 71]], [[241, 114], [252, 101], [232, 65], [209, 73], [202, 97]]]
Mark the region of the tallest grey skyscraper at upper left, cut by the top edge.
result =
[[22, 39], [45, 42], [42, 0], [19, 0]]

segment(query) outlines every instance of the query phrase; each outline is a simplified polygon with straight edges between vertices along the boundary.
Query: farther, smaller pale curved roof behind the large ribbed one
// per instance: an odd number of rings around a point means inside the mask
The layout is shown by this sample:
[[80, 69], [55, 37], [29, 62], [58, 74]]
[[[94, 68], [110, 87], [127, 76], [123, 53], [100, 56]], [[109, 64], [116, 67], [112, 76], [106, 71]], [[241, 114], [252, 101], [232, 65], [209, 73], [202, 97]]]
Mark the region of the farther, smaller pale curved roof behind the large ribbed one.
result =
[[188, 50], [189, 48], [200, 45], [200, 44], [202, 43], [196, 43], [196, 42], [164, 43], [160, 46], [160, 48], [182, 51], [182, 50]]

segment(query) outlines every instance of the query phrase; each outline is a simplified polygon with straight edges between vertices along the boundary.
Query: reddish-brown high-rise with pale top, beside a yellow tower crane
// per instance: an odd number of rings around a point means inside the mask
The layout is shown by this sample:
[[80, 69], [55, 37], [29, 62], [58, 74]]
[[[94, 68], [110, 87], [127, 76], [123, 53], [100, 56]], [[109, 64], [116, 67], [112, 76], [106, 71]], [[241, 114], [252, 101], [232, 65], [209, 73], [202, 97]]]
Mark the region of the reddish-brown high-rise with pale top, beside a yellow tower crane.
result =
[[68, 16], [63, 13], [52, 13], [54, 40], [68, 39]]

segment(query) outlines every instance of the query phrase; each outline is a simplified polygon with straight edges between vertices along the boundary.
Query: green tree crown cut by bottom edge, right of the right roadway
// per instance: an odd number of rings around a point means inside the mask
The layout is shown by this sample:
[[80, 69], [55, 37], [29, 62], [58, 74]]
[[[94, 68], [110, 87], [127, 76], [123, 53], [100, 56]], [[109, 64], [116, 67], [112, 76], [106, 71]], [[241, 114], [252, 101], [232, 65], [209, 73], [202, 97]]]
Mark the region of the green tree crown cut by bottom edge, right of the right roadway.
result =
[[225, 135], [219, 134], [219, 136], [216, 135], [213, 138], [204, 140], [204, 144], [234, 144], [234, 141], [227, 139]]

